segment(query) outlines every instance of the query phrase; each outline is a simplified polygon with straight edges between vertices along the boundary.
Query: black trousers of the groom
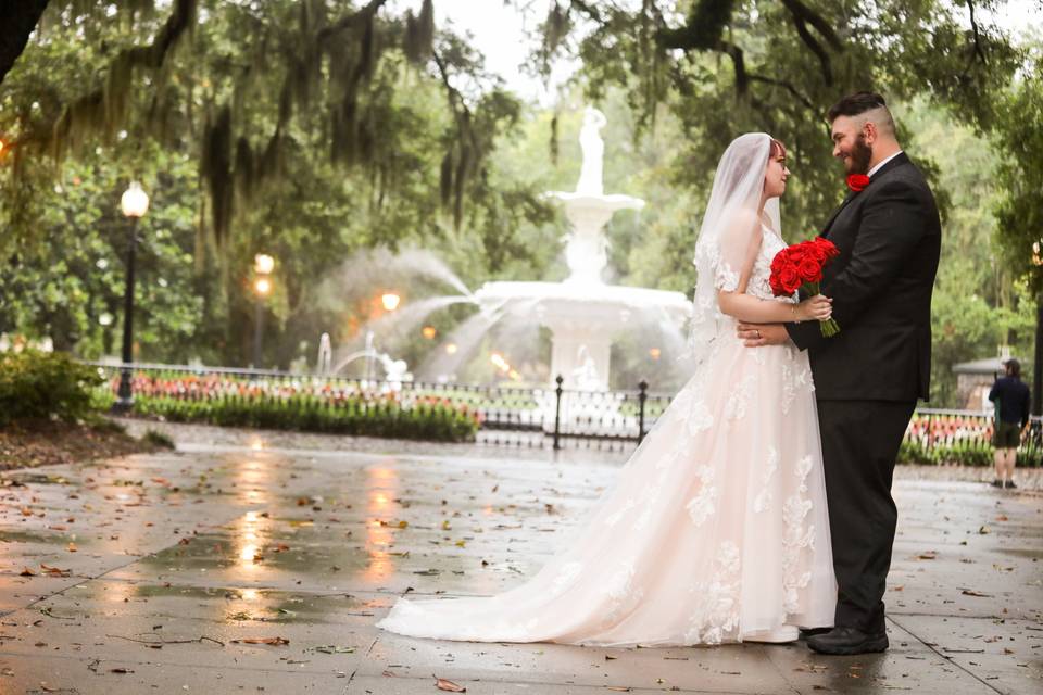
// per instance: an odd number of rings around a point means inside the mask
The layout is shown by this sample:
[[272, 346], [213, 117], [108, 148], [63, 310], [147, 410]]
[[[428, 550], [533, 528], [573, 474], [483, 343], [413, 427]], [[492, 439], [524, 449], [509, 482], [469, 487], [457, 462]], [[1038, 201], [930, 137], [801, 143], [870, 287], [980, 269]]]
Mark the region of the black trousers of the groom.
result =
[[883, 632], [883, 592], [899, 513], [894, 462], [916, 403], [818, 401], [837, 627]]

